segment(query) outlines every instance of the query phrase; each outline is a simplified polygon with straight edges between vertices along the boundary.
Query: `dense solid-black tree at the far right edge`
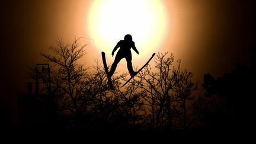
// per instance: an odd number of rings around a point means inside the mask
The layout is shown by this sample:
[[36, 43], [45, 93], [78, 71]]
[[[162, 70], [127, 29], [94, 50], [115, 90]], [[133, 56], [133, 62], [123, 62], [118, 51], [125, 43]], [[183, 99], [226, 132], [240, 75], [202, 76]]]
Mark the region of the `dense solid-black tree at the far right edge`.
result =
[[236, 69], [219, 78], [210, 73], [204, 75], [205, 97], [194, 104], [201, 123], [212, 130], [232, 133], [245, 132], [253, 126], [255, 81], [254, 63], [249, 68], [238, 63]]

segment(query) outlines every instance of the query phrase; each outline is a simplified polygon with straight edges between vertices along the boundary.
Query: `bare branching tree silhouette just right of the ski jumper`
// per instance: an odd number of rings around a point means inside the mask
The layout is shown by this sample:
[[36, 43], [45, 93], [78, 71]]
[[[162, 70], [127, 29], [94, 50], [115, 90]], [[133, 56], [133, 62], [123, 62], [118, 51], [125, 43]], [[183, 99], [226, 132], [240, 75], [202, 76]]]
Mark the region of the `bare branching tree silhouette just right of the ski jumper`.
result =
[[181, 71], [181, 60], [174, 65], [174, 55], [158, 53], [155, 69], [146, 66], [130, 85], [142, 89], [145, 97], [146, 123], [151, 129], [187, 129], [192, 124], [188, 100], [193, 100], [197, 83], [191, 81], [193, 74], [186, 69]]

